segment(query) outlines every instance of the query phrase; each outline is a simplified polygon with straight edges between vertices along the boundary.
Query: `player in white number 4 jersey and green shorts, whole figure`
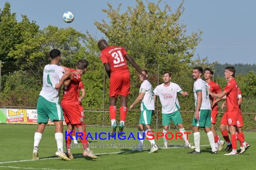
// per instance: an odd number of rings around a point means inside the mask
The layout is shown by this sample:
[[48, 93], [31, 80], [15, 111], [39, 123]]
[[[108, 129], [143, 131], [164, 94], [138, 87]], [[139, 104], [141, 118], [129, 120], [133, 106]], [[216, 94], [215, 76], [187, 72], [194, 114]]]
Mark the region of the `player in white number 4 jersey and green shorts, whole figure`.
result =
[[63, 151], [63, 112], [59, 102], [59, 89], [55, 89], [63, 76], [64, 69], [58, 66], [61, 52], [57, 49], [50, 51], [51, 63], [44, 67], [43, 88], [37, 101], [37, 123], [38, 127], [34, 136], [33, 159], [38, 160], [38, 147], [44, 132], [45, 125], [49, 119], [55, 125], [55, 140], [57, 143], [57, 156], [65, 160], [70, 159]]

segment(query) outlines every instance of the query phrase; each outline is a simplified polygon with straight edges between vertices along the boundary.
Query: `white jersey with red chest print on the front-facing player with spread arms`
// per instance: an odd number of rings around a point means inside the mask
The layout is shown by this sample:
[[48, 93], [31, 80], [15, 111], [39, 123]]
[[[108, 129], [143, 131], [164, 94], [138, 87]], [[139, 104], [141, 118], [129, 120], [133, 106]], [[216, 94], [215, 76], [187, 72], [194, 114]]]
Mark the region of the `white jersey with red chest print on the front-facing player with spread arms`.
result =
[[173, 113], [181, 108], [177, 95], [177, 93], [181, 92], [181, 87], [172, 82], [168, 87], [161, 84], [154, 89], [154, 94], [160, 98], [163, 114]]

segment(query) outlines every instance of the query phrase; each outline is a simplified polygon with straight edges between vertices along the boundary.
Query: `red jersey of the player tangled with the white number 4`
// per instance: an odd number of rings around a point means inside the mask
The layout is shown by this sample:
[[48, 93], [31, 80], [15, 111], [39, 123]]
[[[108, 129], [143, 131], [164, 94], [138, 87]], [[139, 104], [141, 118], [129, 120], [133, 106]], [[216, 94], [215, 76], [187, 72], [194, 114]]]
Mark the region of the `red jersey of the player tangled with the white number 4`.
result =
[[[72, 68], [69, 68], [71, 72], [75, 71]], [[77, 100], [77, 90], [79, 87], [79, 82], [81, 81], [81, 75], [73, 73], [73, 79], [68, 86], [63, 88], [63, 98], [62, 101], [65, 101], [67, 104], [76, 104]]]

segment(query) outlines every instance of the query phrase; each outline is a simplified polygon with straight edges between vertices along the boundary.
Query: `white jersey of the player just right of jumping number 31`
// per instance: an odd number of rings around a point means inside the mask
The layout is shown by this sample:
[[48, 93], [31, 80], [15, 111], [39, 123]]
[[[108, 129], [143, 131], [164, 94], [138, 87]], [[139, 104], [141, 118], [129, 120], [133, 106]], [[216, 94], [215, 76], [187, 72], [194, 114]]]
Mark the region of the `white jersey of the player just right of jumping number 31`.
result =
[[[145, 96], [141, 102], [141, 111], [145, 109], [154, 110], [154, 92], [149, 81], [146, 80], [141, 84], [140, 93], [141, 92], [145, 92]], [[144, 109], [144, 107], [146, 108]]]

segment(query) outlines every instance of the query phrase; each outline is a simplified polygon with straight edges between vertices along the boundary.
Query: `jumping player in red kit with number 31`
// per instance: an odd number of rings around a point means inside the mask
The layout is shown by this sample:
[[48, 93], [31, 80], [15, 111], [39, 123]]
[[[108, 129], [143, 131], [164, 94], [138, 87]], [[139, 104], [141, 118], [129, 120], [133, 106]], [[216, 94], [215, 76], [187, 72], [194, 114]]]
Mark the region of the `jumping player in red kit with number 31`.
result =
[[128, 60], [137, 72], [146, 79], [142, 74], [141, 69], [135, 61], [128, 55], [124, 47], [108, 46], [105, 39], [98, 42], [98, 47], [101, 50], [101, 60], [105, 66], [107, 75], [110, 78], [109, 97], [110, 97], [110, 119], [111, 119], [111, 134], [113, 135], [117, 124], [115, 121], [116, 100], [121, 95], [120, 106], [120, 125], [119, 132], [123, 132], [124, 122], [127, 114], [128, 94], [130, 93], [130, 72], [126, 63]]

